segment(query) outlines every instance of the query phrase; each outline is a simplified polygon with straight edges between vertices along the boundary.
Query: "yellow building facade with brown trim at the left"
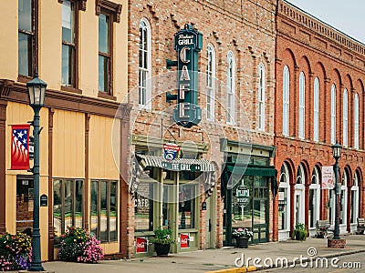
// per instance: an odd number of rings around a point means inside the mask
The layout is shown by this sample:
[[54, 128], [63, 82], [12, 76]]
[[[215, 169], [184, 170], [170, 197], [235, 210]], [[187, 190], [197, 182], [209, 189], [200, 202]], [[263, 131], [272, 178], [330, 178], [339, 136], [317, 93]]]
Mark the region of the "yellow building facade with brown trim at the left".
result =
[[26, 82], [37, 72], [47, 82], [40, 112], [42, 260], [56, 258], [68, 226], [96, 233], [105, 254], [125, 252], [120, 200], [129, 196], [119, 170], [127, 162], [115, 158], [127, 158], [127, 0], [3, 1], [0, 21], [0, 233], [32, 227], [33, 177], [11, 169], [11, 126], [33, 120]]

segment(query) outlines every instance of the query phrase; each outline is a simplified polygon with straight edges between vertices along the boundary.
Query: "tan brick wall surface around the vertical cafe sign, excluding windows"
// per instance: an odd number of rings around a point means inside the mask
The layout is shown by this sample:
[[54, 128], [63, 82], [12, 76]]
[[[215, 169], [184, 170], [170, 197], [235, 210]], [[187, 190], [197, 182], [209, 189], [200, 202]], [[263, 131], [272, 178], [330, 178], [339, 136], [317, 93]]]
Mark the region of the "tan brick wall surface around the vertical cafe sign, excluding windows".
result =
[[[129, 19], [129, 102], [133, 104], [131, 112], [131, 133], [138, 136], [177, 141], [193, 141], [207, 145], [203, 158], [214, 161], [218, 166], [223, 163], [220, 152], [220, 137], [251, 140], [255, 144], [272, 146], [274, 144], [274, 99], [275, 99], [275, 11], [276, 1], [234, 0], [197, 0], [197, 1], [142, 1], [130, 0]], [[176, 85], [155, 85], [152, 80], [151, 111], [139, 111], [139, 25], [145, 18], [151, 25], [151, 74], [152, 77], [166, 76], [166, 59], [176, 60], [173, 49], [173, 35], [188, 23], [203, 34], [203, 50], [199, 55], [199, 71], [204, 73], [207, 63], [206, 47], [214, 46], [216, 78], [221, 85], [216, 86], [216, 103], [214, 122], [206, 121], [205, 115], [199, 126], [186, 129], [175, 126], [172, 120], [174, 103], [165, 102], [165, 91], [176, 89]], [[238, 126], [225, 123], [225, 82], [226, 56], [231, 51], [235, 55], [235, 120]], [[266, 70], [266, 128], [257, 130], [257, 85], [258, 65], [263, 63]], [[200, 79], [205, 84], [205, 79]], [[239, 102], [238, 102], [239, 100]], [[206, 96], [200, 92], [199, 105], [205, 108]], [[169, 108], [170, 107], [170, 108]], [[164, 113], [157, 111], [165, 110]], [[165, 128], [168, 127], [169, 131]], [[245, 137], [244, 128], [252, 130], [251, 136]], [[173, 135], [173, 136], [172, 136]], [[220, 173], [219, 173], [220, 175]], [[220, 197], [220, 179], [216, 185], [216, 247], [223, 245], [223, 200]], [[204, 212], [201, 212], [200, 248], [204, 248]]]

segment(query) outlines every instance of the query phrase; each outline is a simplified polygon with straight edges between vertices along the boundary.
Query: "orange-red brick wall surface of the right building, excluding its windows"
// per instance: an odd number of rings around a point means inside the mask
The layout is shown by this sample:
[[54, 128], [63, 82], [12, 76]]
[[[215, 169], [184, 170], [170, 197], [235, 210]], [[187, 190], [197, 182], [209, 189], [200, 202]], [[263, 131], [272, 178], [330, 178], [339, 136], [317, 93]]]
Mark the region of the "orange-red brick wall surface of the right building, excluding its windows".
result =
[[[275, 165], [280, 170], [283, 162], [291, 167], [290, 183], [294, 187], [297, 167], [303, 164], [306, 172], [306, 194], [311, 183], [315, 166], [334, 164], [330, 144], [330, 90], [337, 86], [336, 138], [342, 143], [343, 90], [349, 92], [349, 147], [342, 150], [339, 159], [340, 177], [346, 168], [349, 173], [348, 190], [352, 186], [355, 173], [360, 178], [360, 216], [365, 212], [364, 204], [364, 83], [365, 83], [365, 45], [339, 33], [329, 25], [297, 10], [283, 1], [277, 7], [276, 37], [276, 109], [275, 145], [277, 147]], [[283, 69], [290, 72], [289, 136], [283, 136]], [[305, 139], [298, 137], [298, 78], [299, 73], [306, 76]], [[319, 141], [313, 140], [313, 85], [319, 79]], [[353, 99], [360, 98], [360, 149], [353, 148]], [[280, 172], [278, 173], [278, 177]], [[293, 179], [294, 178], [294, 179]], [[308, 206], [308, 196], [306, 195]], [[328, 190], [321, 190], [320, 218], [328, 217]], [[349, 206], [348, 206], [349, 207]], [[308, 211], [308, 209], [306, 209]], [[293, 210], [291, 218], [293, 218]], [[308, 216], [308, 215], [307, 215]], [[277, 217], [277, 216], [276, 216]], [[308, 218], [306, 219], [308, 225]]]

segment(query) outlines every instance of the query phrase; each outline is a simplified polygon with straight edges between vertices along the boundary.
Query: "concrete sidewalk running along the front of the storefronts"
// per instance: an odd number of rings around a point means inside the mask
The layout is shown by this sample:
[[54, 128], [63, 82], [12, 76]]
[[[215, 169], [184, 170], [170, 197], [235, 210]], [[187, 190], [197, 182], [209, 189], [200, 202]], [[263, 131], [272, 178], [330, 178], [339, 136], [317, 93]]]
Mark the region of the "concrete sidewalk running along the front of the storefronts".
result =
[[[99, 264], [80, 264], [68, 262], [47, 262], [43, 267], [56, 273], [183, 273], [183, 272], [208, 272], [222, 270], [222, 272], [245, 272], [245, 267], [238, 270], [235, 260], [261, 258], [264, 259], [287, 258], [290, 262], [295, 258], [311, 257], [317, 252], [317, 257], [333, 258], [351, 253], [365, 252], [365, 235], [341, 236], [347, 241], [347, 248], [327, 248], [327, 239], [308, 238], [304, 242], [288, 240], [285, 242], [272, 242], [250, 245], [248, 248], [221, 248], [193, 251], [188, 253], [170, 254], [168, 257], [131, 258], [128, 260], [104, 260]], [[308, 255], [310, 248], [310, 255]], [[316, 257], [316, 256], [315, 256]], [[342, 257], [344, 259], [345, 257]], [[247, 265], [245, 265], [247, 266]], [[235, 268], [235, 269], [230, 269]], [[260, 269], [250, 267], [250, 270]]]

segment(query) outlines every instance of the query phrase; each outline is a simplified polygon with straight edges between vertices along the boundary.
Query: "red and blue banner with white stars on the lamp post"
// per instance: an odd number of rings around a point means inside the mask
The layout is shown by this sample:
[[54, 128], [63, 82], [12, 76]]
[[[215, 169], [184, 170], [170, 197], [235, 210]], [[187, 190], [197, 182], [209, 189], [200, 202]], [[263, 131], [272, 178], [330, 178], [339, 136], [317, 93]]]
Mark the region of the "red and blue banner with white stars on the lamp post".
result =
[[29, 169], [30, 125], [13, 125], [11, 127], [11, 169]]

